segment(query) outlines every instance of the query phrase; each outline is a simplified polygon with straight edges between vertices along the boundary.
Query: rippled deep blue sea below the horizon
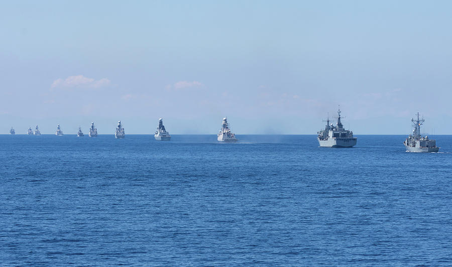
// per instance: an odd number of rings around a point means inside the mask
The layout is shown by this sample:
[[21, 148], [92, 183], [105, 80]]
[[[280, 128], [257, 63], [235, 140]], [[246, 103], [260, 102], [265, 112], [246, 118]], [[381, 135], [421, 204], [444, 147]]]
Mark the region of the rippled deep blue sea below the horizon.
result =
[[0, 265], [452, 265], [452, 136], [357, 137], [0, 135]]

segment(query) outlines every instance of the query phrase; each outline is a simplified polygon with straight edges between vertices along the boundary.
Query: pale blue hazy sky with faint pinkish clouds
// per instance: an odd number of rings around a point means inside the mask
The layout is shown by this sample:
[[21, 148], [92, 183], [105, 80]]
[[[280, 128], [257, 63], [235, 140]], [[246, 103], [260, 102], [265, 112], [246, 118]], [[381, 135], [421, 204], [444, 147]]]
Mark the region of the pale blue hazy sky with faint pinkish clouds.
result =
[[452, 133], [450, 1], [30, 1], [0, 7], [0, 133]]

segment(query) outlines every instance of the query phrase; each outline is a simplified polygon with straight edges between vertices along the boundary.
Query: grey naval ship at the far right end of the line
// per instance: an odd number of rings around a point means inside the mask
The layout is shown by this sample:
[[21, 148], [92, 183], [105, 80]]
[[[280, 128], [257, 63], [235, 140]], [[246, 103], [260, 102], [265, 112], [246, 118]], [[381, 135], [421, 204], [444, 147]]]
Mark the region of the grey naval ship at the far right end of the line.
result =
[[436, 146], [436, 140], [428, 139], [428, 136], [422, 137], [420, 134], [420, 126], [424, 124], [424, 118], [419, 119], [419, 112], [416, 114], [417, 120], [411, 118], [414, 124], [413, 134], [403, 142], [407, 152], [438, 152], [439, 147]]

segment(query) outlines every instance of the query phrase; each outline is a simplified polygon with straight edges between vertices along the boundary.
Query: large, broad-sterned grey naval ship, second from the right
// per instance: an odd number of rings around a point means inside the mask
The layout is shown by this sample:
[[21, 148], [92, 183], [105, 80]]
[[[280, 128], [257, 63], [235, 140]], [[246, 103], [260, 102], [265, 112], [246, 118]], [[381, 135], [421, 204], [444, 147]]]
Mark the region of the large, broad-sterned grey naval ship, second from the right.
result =
[[321, 147], [353, 147], [356, 145], [356, 137], [353, 132], [344, 129], [341, 123], [341, 109], [337, 110], [337, 123], [329, 125], [329, 117], [326, 119], [325, 129], [317, 132], [318, 144]]

